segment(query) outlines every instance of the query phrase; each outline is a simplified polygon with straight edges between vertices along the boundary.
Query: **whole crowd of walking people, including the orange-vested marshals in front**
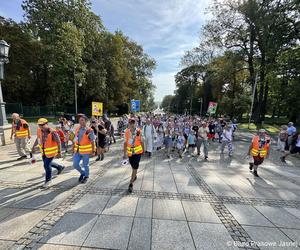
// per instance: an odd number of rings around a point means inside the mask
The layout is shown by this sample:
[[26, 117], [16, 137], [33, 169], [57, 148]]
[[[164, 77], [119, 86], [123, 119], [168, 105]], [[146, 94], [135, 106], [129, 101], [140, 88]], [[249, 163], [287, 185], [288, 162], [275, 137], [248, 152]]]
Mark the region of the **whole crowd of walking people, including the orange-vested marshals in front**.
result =
[[[85, 115], [78, 117], [79, 125], [61, 117], [56, 129], [49, 127], [48, 120], [38, 120], [37, 139], [30, 145], [31, 138], [28, 123], [18, 114], [13, 114], [11, 137], [15, 137], [18, 160], [27, 158], [27, 153], [33, 153], [38, 146], [45, 169], [45, 183], [51, 183], [52, 168], [60, 174], [64, 166], [55, 163], [55, 158], [62, 153], [73, 154], [73, 166], [79, 172], [79, 182], [86, 183], [89, 178], [89, 161], [96, 156], [96, 161], [102, 161], [111, 143], [116, 143], [112, 122], [107, 116], [103, 118]], [[153, 115], [151, 113], [129, 116], [124, 115], [117, 122], [117, 132], [124, 139], [124, 160], [132, 167], [132, 176], [128, 191], [132, 192], [136, 180], [137, 169], [141, 156], [151, 158], [155, 151], [162, 151], [166, 158], [183, 158], [185, 154], [193, 157], [209, 159], [210, 144], [220, 144], [221, 154], [227, 150], [229, 157], [234, 155], [234, 133], [237, 121], [224, 118], [207, 118], [188, 115]], [[71, 145], [69, 145], [69, 143]], [[253, 157], [249, 169], [258, 177], [258, 166], [261, 165], [270, 152], [271, 137], [264, 129], [253, 136], [247, 152]], [[201, 152], [202, 148], [202, 152]], [[282, 126], [278, 135], [277, 149], [281, 152], [280, 159], [290, 154], [300, 153], [300, 135], [293, 123]], [[82, 162], [82, 163], [81, 163]], [[81, 163], [81, 164], [80, 164]]]

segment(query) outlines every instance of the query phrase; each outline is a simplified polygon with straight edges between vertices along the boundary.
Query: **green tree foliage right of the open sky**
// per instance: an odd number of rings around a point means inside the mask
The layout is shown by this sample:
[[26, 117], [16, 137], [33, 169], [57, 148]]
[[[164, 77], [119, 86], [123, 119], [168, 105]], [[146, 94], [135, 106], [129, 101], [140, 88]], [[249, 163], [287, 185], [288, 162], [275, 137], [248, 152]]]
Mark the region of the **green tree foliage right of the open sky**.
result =
[[[221, 102], [219, 111], [230, 117], [249, 113], [247, 96], [257, 79], [257, 123], [266, 114], [299, 119], [300, 2], [215, 0], [209, 12], [213, 18], [202, 28], [199, 46], [182, 58], [186, 69], [205, 69], [204, 83], [196, 93], [203, 98], [204, 108], [212, 100]], [[177, 93], [191, 96], [180, 82]]]

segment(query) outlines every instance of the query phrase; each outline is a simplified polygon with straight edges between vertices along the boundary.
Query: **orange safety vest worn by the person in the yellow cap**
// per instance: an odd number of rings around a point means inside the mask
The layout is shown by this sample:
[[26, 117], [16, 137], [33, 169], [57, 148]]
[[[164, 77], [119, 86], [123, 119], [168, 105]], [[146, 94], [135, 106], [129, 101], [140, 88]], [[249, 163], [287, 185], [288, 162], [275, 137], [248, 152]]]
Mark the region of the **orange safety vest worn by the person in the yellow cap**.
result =
[[39, 139], [39, 148], [42, 155], [47, 158], [53, 158], [58, 154], [58, 144], [52, 138], [52, 133], [55, 132], [54, 129], [50, 129], [50, 133], [47, 135], [47, 139], [42, 143], [43, 132], [40, 128], [37, 130], [37, 137]]

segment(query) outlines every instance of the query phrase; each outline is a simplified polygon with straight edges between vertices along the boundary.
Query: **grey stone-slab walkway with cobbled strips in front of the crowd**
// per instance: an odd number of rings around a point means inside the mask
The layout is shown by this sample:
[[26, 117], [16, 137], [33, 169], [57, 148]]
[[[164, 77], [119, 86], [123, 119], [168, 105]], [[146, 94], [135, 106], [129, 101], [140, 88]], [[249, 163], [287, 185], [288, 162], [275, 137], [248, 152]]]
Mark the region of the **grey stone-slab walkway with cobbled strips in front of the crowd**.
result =
[[282, 164], [272, 151], [255, 178], [244, 158], [250, 138], [237, 135], [233, 158], [218, 143], [208, 162], [144, 158], [131, 195], [120, 141], [103, 162], [92, 160], [87, 184], [77, 183], [67, 156], [44, 191], [41, 159], [16, 162], [14, 146], [2, 147], [0, 249], [296, 249], [300, 160]]

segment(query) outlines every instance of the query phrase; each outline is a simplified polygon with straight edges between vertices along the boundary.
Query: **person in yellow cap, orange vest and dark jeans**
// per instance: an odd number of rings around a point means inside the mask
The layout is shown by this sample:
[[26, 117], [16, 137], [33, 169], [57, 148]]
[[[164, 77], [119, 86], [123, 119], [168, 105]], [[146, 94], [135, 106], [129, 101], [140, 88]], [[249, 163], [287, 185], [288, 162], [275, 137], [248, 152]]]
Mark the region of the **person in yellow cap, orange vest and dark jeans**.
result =
[[61, 143], [59, 135], [56, 131], [49, 127], [48, 120], [40, 118], [38, 120], [37, 138], [32, 146], [31, 152], [34, 153], [35, 147], [38, 145], [42, 153], [45, 183], [42, 188], [47, 188], [51, 185], [52, 168], [57, 169], [57, 174], [61, 174], [64, 166], [61, 166], [53, 161], [55, 157], [61, 157]]

